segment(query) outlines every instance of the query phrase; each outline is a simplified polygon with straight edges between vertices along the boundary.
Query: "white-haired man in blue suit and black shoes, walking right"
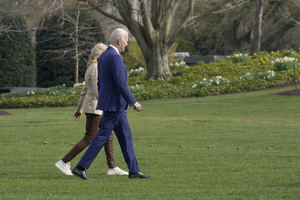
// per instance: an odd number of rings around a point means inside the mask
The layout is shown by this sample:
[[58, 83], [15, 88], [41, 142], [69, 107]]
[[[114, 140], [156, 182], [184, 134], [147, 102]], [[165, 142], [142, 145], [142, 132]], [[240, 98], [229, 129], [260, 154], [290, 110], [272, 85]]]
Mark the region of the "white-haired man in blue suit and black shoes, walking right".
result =
[[90, 180], [85, 170], [90, 167], [93, 160], [107, 142], [112, 131], [115, 132], [124, 159], [129, 169], [129, 178], [150, 178], [152, 175], [143, 174], [137, 163], [133, 145], [132, 134], [129, 127], [126, 109], [133, 106], [141, 111], [141, 105], [135, 100], [128, 89], [127, 72], [119, 52], [124, 51], [128, 42], [128, 33], [124, 29], [115, 29], [110, 35], [110, 45], [98, 60], [98, 110], [103, 110], [104, 116], [100, 123], [98, 133], [87, 151], [81, 157], [72, 173], [82, 179]]

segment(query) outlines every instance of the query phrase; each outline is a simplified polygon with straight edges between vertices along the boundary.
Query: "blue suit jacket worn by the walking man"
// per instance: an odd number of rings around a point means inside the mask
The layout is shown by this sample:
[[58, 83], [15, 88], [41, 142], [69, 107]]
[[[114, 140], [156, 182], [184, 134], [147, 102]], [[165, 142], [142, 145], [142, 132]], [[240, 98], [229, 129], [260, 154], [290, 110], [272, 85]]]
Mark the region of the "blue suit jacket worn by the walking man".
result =
[[122, 57], [110, 46], [98, 60], [98, 91], [98, 110], [121, 111], [136, 103], [128, 88]]

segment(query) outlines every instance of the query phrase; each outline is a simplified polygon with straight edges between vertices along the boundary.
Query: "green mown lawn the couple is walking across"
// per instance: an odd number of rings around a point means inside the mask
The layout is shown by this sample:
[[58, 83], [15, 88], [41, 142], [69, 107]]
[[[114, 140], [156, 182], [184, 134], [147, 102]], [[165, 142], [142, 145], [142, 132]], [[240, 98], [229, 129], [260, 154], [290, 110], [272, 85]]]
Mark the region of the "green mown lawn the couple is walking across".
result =
[[[104, 151], [88, 170], [93, 181], [55, 168], [83, 136], [85, 118], [72, 120], [75, 107], [5, 110], [11, 115], [0, 116], [0, 199], [298, 200], [300, 96], [277, 95], [289, 89], [129, 109], [140, 168], [153, 174], [146, 180], [107, 176]], [[114, 143], [117, 165], [126, 169]]]

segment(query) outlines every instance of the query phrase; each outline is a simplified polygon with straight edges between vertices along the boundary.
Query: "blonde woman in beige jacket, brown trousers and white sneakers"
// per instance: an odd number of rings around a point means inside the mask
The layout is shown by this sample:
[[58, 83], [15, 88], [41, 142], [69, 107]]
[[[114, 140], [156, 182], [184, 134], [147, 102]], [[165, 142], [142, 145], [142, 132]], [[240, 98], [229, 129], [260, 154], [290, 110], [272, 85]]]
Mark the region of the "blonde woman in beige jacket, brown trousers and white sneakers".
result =
[[[85, 72], [85, 85], [83, 86], [80, 98], [77, 105], [77, 111], [74, 114], [74, 120], [78, 120], [81, 117], [81, 111], [86, 115], [86, 132], [83, 137], [73, 149], [65, 155], [61, 160], [55, 163], [55, 166], [66, 175], [73, 175], [70, 168], [70, 161], [76, 157], [82, 150], [84, 150], [95, 138], [99, 123], [103, 117], [102, 110], [96, 110], [98, 101], [98, 69], [97, 60], [98, 57], [107, 45], [98, 43], [92, 49], [91, 55], [89, 56], [87, 69]], [[128, 175], [128, 172], [121, 170], [116, 166], [113, 153], [113, 134], [110, 135], [109, 140], [104, 145], [108, 175]]]

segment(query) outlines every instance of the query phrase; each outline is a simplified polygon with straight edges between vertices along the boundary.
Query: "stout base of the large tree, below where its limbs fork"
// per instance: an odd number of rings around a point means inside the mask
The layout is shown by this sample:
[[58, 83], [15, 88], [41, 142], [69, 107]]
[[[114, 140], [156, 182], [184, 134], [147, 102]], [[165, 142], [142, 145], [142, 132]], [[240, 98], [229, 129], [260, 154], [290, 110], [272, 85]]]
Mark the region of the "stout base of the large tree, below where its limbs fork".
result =
[[148, 51], [145, 54], [143, 51], [144, 58], [147, 64], [147, 74], [145, 80], [156, 80], [156, 79], [168, 79], [171, 78], [171, 72], [169, 69], [169, 50], [156, 46], [151, 48], [152, 51]]

